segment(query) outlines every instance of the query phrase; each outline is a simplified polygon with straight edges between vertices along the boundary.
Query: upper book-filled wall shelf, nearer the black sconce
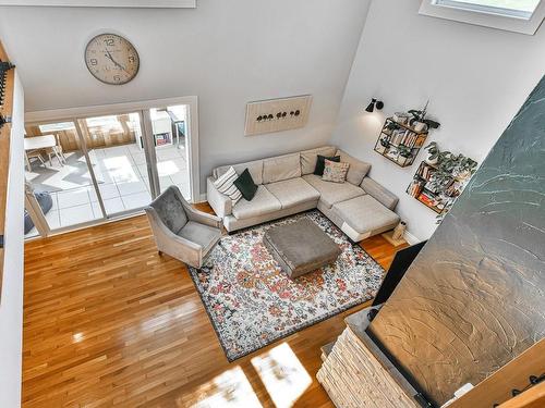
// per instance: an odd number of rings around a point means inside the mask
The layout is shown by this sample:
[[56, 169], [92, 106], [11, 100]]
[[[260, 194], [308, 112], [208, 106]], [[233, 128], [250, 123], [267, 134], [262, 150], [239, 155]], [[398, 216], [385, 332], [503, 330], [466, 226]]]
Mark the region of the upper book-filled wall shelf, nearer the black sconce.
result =
[[427, 138], [427, 131], [387, 118], [375, 144], [375, 151], [401, 168], [411, 165]]

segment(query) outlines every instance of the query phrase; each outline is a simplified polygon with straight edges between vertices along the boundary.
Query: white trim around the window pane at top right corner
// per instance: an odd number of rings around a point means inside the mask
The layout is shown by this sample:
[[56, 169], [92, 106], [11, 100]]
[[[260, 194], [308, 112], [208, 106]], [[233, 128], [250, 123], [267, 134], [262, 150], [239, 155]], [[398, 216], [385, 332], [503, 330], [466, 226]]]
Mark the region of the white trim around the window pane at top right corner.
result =
[[494, 14], [485, 11], [437, 4], [436, 0], [422, 0], [419, 13], [438, 18], [504, 29], [507, 32], [534, 35], [545, 17], [545, 0], [540, 2], [532, 14], [532, 17], [529, 20], [517, 16]]

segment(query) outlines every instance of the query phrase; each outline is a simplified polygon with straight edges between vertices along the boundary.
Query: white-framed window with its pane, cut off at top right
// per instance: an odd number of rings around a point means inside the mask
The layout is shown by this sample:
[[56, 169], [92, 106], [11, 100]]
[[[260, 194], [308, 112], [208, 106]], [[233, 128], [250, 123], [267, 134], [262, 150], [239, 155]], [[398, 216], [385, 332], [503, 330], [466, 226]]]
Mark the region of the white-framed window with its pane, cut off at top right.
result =
[[420, 14], [533, 35], [545, 0], [423, 0]]

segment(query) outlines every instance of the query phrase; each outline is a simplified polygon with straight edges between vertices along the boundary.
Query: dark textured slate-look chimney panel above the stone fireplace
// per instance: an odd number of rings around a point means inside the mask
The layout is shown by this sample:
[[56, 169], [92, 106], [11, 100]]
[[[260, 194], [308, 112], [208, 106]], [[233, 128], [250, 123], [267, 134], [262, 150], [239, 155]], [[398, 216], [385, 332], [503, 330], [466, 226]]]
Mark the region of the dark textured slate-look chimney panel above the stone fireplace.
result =
[[545, 77], [370, 330], [440, 406], [545, 336], [544, 290]]

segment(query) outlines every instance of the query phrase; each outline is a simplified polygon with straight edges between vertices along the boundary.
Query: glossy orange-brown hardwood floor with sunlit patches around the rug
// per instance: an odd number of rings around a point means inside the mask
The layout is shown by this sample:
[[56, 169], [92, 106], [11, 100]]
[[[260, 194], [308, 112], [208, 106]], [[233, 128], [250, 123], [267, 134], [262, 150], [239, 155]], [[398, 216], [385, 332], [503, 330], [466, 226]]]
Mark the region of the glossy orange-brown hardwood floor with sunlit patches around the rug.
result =
[[[362, 247], [386, 269], [396, 251], [380, 236]], [[315, 379], [319, 347], [362, 307], [229, 363], [186, 268], [158, 256], [144, 215], [34, 240], [25, 246], [23, 406], [275, 407], [287, 396], [270, 379], [288, 376], [304, 390], [288, 396], [295, 407], [332, 407]], [[255, 357], [280, 350], [302, 366], [269, 368], [267, 390]]]

